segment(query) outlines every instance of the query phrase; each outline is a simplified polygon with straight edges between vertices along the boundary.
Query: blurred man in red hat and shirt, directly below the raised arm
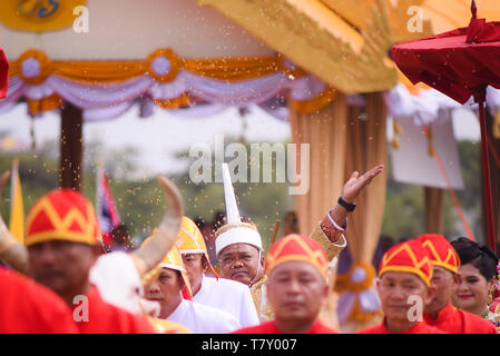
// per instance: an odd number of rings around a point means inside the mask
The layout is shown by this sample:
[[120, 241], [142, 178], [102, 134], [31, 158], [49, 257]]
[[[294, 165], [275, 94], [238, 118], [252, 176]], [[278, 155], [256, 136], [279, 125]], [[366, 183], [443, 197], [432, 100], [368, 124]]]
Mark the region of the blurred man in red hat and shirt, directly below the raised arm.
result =
[[275, 243], [266, 257], [266, 298], [274, 319], [236, 334], [336, 334], [320, 322], [326, 303], [329, 261], [323, 248], [297, 234]]

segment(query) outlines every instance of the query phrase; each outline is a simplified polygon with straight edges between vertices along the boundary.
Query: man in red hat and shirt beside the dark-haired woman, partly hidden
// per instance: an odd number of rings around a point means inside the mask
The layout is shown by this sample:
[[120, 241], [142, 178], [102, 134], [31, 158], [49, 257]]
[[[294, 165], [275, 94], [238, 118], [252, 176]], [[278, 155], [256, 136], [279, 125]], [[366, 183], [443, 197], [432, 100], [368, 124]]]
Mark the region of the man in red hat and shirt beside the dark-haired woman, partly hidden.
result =
[[451, 304], [460, 258], [444, 236], [425, 234], [418, 240], [425, 247], [434, 266], [431, 286], [435, 288], [435, 296], [424, 309], [425, 322], [451, 334], [498, 334], [491, 322], [457, 309]]

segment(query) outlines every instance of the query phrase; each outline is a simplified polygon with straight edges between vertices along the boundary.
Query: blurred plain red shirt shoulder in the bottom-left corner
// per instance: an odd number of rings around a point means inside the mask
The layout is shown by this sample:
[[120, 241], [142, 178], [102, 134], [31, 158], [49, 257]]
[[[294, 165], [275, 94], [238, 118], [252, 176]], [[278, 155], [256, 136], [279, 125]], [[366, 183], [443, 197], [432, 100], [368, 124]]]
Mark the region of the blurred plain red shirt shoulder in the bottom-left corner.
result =
[[71, 310], [57, 294], [0, 267], [0, 333], [78, 333]]

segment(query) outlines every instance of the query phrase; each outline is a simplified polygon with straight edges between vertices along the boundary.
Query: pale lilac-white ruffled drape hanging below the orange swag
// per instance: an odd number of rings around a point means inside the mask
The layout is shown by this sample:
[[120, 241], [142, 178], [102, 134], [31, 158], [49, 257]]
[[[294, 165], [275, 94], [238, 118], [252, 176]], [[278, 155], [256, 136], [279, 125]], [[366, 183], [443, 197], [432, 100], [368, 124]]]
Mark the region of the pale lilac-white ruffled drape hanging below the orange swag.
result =
[[[23, 72], [24, 76], [38, 76], [31, 66], [22, 67], [22, 69], [27, 70]], [[167, 83], [143, 75], [122, 82], [96, 85], [72, 81], [57, 75], [50, 75], [40, 85], [29, 85], [16, 75], [9, 78], [9, 91], [7, 98], [0, 100], [0, 112], [11, 109], [23, 97], [40, 100], [56, 93], [81, 108], [86, 121], [108, 120], [120, 116], [135, 102], [139, 102], [143, 115], [148, 116], [154, 100], [176, 99], [187, 92], [196, 100], [196, 103], [203, 105], [199, 108], [195, 105], [189, 110], [173, 109], [170, 112], [187, 117], [203, 117], [220, 112], [227, 107], [265, 105], [287, 90], [294, 100], [308, 100], [317, 97], [326, 88], [323, 81], [311, 75], [294, 78], [283, 71], [235, 82], [210, 79], [180, 70], [175, 80]], [[272, 108], [272, 106], [264, 106], [264, 109], [283, 118], [287, 113], [283, 108]]]

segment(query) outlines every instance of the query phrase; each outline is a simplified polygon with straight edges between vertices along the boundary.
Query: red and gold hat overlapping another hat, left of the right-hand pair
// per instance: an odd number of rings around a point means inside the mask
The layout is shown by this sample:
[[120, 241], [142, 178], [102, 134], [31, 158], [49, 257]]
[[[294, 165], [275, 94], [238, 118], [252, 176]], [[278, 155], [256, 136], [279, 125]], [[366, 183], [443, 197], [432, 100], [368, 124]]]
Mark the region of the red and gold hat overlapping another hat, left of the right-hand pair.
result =
[[425, 248], [414, 239], [398, 244], [384, 254], [379, 267], [379, 277], [386, 271], [415, 274], [430, 286], [433, 269]]

